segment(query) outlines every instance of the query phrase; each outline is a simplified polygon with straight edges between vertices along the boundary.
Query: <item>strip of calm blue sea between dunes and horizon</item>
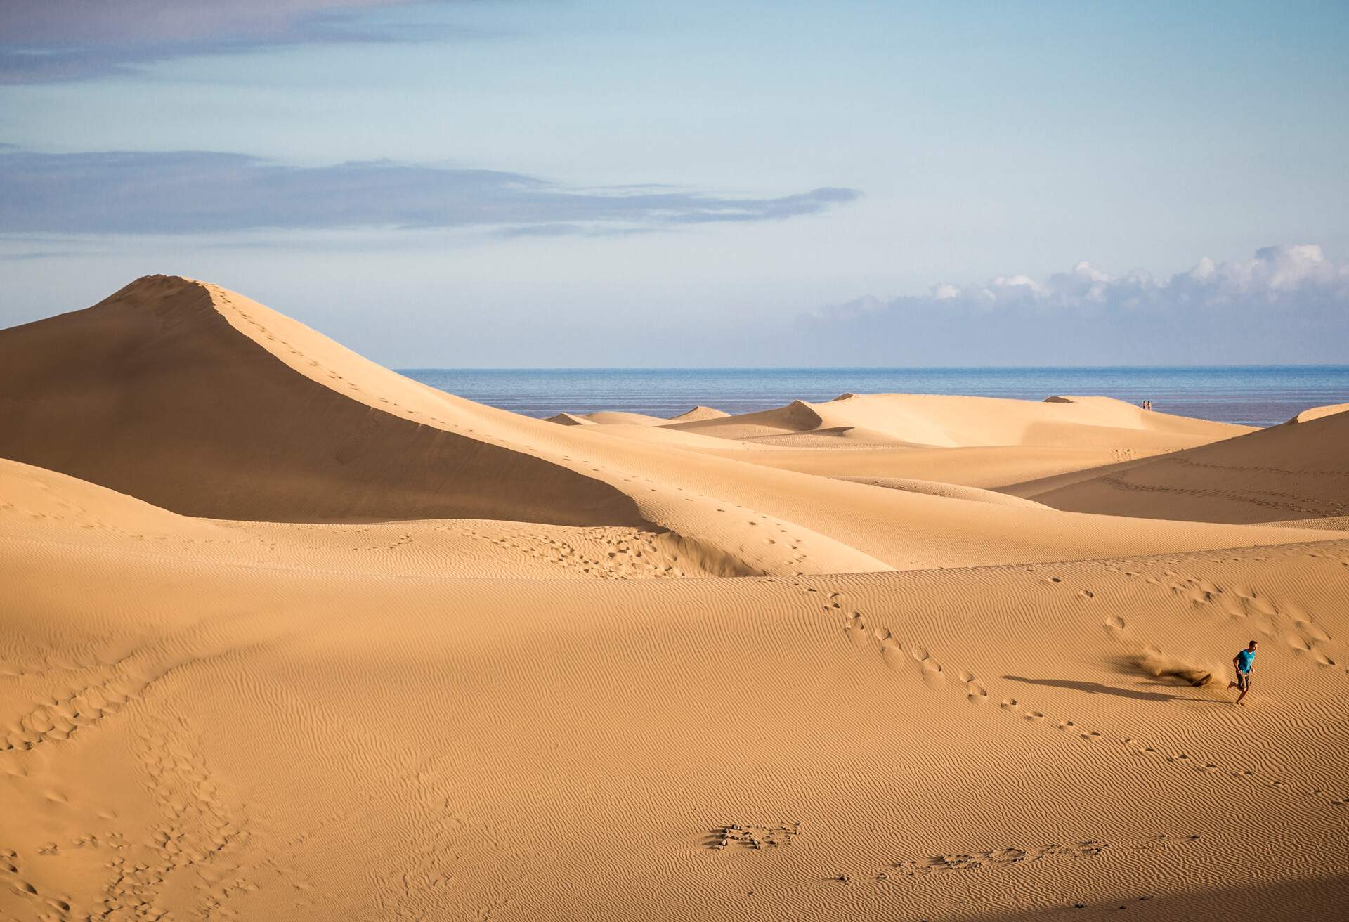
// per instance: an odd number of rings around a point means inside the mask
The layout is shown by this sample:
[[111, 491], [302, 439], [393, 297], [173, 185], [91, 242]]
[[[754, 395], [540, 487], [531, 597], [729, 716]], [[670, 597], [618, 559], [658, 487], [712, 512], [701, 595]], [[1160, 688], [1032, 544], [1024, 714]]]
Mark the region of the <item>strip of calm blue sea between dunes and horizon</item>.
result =
[[1349, 366], [1206, 369], [402, 369], [409, 378], [526, 416], [630, 410], [676, 416], [858, 394], [975, 394], [1043, 400], [1105, 394], [1206, 420], [1271, 425], [1349, 402]]

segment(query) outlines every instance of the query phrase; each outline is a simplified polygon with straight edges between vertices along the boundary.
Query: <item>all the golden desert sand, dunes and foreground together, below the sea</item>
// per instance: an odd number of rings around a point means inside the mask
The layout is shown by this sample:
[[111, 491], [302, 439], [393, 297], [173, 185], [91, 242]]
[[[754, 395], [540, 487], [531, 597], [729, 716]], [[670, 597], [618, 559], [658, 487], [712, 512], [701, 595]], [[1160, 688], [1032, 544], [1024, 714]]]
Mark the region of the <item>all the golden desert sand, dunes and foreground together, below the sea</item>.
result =
[[[1349, 895], [1340, 522], [986, 489], [1295, 429], [1280, 464], [1331, 470], [1333, 414], [1244, 435], [876, 396], [557, 425], [163, 277], [0, 332], [0, 918], [1304, 919]], [[774, 427], [815, 443], [755, 444]]]

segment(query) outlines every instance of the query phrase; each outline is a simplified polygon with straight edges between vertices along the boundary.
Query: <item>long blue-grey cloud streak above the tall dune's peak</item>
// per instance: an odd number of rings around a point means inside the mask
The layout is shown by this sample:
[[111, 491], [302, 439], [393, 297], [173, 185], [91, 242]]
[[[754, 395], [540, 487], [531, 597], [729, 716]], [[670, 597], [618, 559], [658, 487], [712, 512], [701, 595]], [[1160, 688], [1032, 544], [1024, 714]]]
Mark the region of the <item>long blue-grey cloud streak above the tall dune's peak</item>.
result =
[[776, 198], [666, 186], [580, 189], [498, 170], [391, 161], [286, 166], [212, 151], [0, 151], [0, 227], [11, 234], [343, 227], [621, 232], [813, 215], [858, 194], [836, 188]]

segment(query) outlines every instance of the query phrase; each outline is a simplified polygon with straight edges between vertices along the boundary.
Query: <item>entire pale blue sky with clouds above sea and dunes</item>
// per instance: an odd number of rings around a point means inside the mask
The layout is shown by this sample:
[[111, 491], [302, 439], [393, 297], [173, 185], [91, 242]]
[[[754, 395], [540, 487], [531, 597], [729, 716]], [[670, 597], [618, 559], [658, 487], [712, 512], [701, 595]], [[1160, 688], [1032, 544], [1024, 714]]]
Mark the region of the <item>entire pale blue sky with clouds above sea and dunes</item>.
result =
[[9, 0], [0, 327], [429, 366], [1349, 362], [1345, 3]]

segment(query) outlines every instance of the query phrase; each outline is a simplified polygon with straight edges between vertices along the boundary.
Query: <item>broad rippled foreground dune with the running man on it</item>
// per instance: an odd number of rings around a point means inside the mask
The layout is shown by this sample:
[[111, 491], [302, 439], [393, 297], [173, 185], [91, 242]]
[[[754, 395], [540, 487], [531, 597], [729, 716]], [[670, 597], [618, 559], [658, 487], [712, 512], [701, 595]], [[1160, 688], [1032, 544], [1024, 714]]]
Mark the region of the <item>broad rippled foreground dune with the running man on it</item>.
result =
[[[1349, 541], [603, 585], [405, 544], [391, 579], [4, 475], [165, 539], [0, 512], [13, 918], [1226, 918], [1230, 887], [1298, 919], [1349, 894]], [[281, 528], [336, 562], [352, 526]], [[1234, 713], [1184, 676], [1248, 634]]]

